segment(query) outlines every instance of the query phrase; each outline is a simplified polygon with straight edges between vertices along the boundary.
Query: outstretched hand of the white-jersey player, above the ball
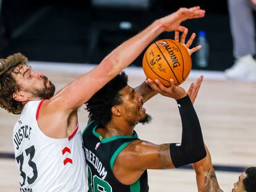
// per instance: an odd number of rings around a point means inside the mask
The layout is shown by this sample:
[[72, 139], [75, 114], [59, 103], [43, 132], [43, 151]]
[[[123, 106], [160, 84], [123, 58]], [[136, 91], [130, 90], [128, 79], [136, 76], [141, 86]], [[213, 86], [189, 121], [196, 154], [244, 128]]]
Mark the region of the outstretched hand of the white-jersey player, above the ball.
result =
[[176, 30], [181, 22], [187, 19], [195, 19], [205, 16], [205, 10], [200, 9], [199, 6], [187, 8], [180, 8], [173, 14], [167, 15], [160, 19], [161, 26], [165, 31]]

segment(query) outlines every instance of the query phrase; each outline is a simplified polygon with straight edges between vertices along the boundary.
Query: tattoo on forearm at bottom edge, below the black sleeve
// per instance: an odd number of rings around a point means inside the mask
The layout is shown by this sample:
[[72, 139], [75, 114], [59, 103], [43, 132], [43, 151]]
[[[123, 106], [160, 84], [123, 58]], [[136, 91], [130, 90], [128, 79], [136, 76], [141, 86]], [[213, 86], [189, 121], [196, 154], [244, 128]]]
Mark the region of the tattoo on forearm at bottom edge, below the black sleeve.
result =
[[205, 175], [205, 182], [203, 183], [203, 192], [224, 192], [221, 190], [218, 180], [215, 175], [215, 170], [210, 168]]

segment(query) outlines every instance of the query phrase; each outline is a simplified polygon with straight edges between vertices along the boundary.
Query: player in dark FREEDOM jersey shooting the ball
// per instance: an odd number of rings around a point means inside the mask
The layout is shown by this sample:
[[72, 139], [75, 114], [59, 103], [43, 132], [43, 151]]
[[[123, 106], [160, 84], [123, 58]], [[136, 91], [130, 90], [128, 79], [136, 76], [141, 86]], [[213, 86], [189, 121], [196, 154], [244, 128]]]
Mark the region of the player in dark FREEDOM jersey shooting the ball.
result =
[[[192, 35], [181, 43], [190, 54], [200, 46], [189, 49]], [[175, 40], [179, 41], [178, 31]], [[186, 91], [174, 86], [165, 88], [160, 81], [147, 80], [147, 86], [131, 88], [122, 72], [101, 88], [88, 102], [90, 122], [83, 131], [87, 161], [89, 191], [148, 191], [147, 169], [171, 169], [202, 159], [205, 155], [203, 137], [197, 115], [192, 106], [202, 83], [202, 77]], [[147, 84], [146, 84], [147, 85]], [[143, 89], [142, 89], [143, 87]], [[161, 93], [177, 100], [182, 119], [181, 144], [153, 144], [139, 140], [134, 127], [150, 122], [143, 103]], [[191, 99], [191, 101], [190, 101]]]

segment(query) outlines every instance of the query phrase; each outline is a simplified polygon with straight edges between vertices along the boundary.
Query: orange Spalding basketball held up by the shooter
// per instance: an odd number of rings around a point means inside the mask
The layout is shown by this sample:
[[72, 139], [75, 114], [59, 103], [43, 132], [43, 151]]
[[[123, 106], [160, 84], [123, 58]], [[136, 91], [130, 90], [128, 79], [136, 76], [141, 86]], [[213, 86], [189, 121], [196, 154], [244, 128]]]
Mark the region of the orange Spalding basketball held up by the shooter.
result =
[[164, 86], [181, 85], [189, 76], [191, 57], [187, 49], [174, 40], [152, 43], [143, 56], [142, 67], [147, 78], [158, 79]]

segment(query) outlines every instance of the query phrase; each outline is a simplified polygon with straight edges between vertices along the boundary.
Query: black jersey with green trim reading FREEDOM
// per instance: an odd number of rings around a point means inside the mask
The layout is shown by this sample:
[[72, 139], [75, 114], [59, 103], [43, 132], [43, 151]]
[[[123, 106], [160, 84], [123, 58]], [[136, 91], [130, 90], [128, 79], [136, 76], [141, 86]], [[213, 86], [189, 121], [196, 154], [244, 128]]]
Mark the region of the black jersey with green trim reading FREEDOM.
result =
[[[132, 185], [120, 183], [113, 173], [114, 161], [122, 149], [134, 140], [139, 140], [134, 131], [131, 136], [103, 138], [95, 130], [97, 123], [90, 122], [83, 131], [83, 145], [87, 162], [88, 191], [92, 192], [147, 192], [147, 170]], [[135, 164], [136, 162], [134, 162]]]

